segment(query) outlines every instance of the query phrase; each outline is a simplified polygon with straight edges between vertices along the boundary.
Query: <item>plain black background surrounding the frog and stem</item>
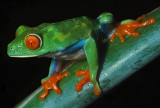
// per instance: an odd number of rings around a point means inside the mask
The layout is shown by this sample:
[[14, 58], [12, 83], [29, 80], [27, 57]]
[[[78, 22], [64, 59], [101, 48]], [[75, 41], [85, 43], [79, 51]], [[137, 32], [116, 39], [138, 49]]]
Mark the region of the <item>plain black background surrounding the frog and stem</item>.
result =
[[[136, 19], [160, 6], [158, 0], [1, 0], [0, 1], [0, 101], [13, 107], [37, 87], [47, 76], [50, 59], [9, 58], [7, 44], [19, 25], [37, 26], [78, 16], [96, 18], [102, 12], [112, 12], [117, 21]], [[154, 108], [160, 107], [160, 57], [104, 94], [87, 108]], [[157, 106], [158, 105], [158, 106]]]

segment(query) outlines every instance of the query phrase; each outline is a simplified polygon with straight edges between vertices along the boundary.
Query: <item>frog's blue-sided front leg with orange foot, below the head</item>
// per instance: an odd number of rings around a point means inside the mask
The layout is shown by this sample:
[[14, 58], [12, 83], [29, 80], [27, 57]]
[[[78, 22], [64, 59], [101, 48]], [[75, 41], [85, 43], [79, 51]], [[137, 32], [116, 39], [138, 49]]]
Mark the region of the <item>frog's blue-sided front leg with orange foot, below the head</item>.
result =
[[69, 75], [69, 72], [62, 74], [61, 69], [62, 60], [53, 59], [49, 68], [49, 74], [46, 78], [42, 79], [41, 83], [44, 87], [44, 93], [40, 95], [40, 99], [44, 100], [48, 94], [48, 89], [53, 89], [57, 94], [61, 94], [61, 90], [57, 86], [57, 82]]

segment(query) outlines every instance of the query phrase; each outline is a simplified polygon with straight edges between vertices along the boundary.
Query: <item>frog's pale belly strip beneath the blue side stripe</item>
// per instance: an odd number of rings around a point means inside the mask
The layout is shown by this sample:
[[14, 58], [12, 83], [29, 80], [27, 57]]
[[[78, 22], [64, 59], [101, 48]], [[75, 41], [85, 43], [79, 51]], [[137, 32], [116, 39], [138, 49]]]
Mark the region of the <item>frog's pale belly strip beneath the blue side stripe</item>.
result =
[[55, 53], [54, 54], [55, 59], [63, 59], [63, 60], [82, 60], [85, 59], [86, 56], [84, 54], [83, 49], [79, 49], [73, 52], [69, 53]]

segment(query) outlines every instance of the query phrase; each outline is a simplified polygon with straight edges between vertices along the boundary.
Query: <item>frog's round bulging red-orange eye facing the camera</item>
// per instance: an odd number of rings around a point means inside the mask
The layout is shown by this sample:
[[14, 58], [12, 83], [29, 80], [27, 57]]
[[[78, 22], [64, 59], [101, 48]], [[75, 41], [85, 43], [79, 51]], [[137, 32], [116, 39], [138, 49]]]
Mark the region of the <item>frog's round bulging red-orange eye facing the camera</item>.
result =
[[25, 39], [26, 46], [31, 50], [36, 50], [40, 47], [40, 39], [35, 35], [29, 35]]

